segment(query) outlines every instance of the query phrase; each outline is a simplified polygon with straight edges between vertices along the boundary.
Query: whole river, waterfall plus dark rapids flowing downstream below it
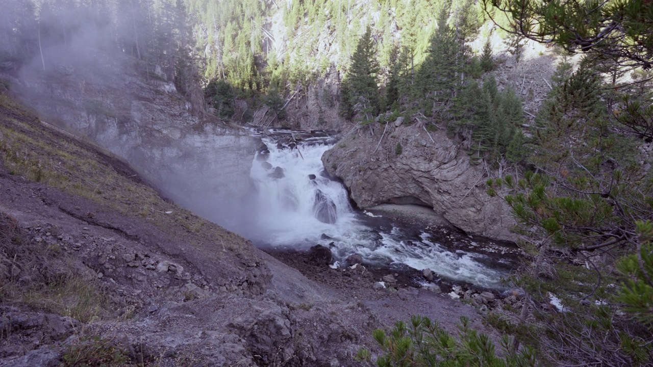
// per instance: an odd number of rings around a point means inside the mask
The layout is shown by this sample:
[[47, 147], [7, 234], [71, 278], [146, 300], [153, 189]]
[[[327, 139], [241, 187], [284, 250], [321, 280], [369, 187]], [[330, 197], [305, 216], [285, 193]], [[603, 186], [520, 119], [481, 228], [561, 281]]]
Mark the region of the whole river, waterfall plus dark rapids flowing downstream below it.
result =
[[343, 184], [329, 178], [322, 165], [323, 153], [336, 144], [333, 136], [274, 131], [262, 140], [267, 149], [257, 152], [251, 168], [257, 210], [249, 237], [257, 246], [306, 250], [322, 244], [331, 248], [335, 266], [345, 266], [344, 260], [358, 253], [364, 263], [430, 268], [442, 279], [485, 288], [501, 287], [513, 266], [501, 256], [473, 250], [486, 239], [406, 226], [353, 208]]

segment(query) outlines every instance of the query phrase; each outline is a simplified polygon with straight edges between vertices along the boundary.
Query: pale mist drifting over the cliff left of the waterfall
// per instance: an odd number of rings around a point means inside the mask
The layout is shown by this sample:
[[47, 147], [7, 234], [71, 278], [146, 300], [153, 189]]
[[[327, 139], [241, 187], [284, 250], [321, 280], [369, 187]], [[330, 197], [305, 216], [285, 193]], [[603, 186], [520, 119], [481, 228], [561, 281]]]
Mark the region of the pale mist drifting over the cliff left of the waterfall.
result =
[[[122, 157], [165, 197], [240, 234], [257, 142], [206, 119], [172, 1], [7, 1], [0, 77], [42, 120]], [[184, 30], [185, 29], [185, 30]], [[188, 62], [187, 62], [188, 61]], [[144, 210], [148, 210], [144, 208]]]

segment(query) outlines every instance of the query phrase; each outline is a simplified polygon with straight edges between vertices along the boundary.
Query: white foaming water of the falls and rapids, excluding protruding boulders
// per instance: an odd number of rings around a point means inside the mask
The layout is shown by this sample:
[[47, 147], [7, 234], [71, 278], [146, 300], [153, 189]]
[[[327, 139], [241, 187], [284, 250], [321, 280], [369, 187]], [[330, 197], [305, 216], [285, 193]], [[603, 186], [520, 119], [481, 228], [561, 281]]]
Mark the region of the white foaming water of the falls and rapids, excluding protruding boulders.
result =
[[[373, 264], [402, 263], [422, 270], [430, 268], [445, 278], [466, 281], [482, 287], [498, 287], [499, 270], [488, 268], [477, 259], [483, 255], [466, 251], [451, 252], [422, 232], [415, 236], [398, 227], [372, 228], [362, 220], [365, 214], [353, 210], [342, 183], [322, 176], [321, 157], [331, 144], [317, 139], [299, 146], [299, 151], [281, 148], [272, 138], [263, 138], [270, 150], [266, 161], [272, 168], [254, 159], [251, 178], [257, 187], [258, 210], [252, 220], [259, 243], [274, 247], [307, 249], [315, 244], [332, 248], [336, 260], [358, 253]], [[282, 178], [270, 176], [283, 168]], [[309, 175], [315, 175], [311, 180]], [[323, 223], [315, 216], [317, 191], [336, 206], [335, 223]], [[331, 238], [322, 238], [327, 234]]]

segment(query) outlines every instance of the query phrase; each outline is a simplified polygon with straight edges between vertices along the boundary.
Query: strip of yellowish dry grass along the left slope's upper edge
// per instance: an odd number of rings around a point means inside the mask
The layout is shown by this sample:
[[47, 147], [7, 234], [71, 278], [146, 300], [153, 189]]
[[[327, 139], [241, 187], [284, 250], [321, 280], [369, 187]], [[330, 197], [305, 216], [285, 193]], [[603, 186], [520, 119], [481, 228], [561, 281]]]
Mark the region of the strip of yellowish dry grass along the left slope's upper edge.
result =
[[[1, 108], [9, 113], [3, 113]], [[165, 202], [148, 185], [121, 176], [108, 163], [114, 155], [88, 142], [56, 133], [32, 112], [0, 93], [0, 159], [10, 174], [46, 183], [72, 195], [110, 206], [125, 216], [138, 215], [161, 229], [178, 229], [223, 238], [239, 250], [240, 238], [191, 212]], [[166, 212], [173, 211], [168, 215]], [[242, 249], [240, 249], [242, 250]], [[219, 256], [215, 251], [214, 255]]]

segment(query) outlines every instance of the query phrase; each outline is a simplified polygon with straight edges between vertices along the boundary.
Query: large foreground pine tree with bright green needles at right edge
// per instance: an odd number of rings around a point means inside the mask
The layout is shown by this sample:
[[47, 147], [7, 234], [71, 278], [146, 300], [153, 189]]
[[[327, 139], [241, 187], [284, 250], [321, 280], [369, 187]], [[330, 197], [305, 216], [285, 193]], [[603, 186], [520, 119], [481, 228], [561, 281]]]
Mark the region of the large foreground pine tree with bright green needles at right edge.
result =
[[[565, 74], [526, 147], [525, 161], [544, 173], [488, 181], [488, 193], [502, 192], [511, 207], [520, 246], [532, 257], [515, 278], [525, 293], [520, 315], [494, 325], [520, 330], [515, 348], [536, 342], [552, 364], [648, 366], [653, 333], [638, 321], [653, 319], [653, 180], [634, 164], [633, 136], [619, 134], [620, 121], [606, 113], [613, 91], [586, 63]], [[515, 160], [518, 135], [508, 147]], [[563, 312], [532, 307], [552, 295]]]

